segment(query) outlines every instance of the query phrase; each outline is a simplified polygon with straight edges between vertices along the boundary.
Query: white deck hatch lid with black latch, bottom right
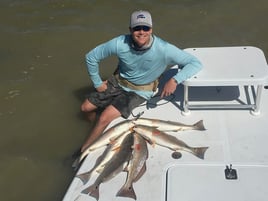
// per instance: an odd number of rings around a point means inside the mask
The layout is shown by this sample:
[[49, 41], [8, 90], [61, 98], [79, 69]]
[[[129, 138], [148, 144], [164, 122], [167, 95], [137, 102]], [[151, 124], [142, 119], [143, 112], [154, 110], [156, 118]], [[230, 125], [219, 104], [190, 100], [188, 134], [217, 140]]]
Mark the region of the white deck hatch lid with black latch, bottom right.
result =
[[[230, 170], [236, 175], [229, 175]], [[268, 198], [268, 166], [184, 164], [169, 167], [166, 173], [166, 201], [267, 201]]]

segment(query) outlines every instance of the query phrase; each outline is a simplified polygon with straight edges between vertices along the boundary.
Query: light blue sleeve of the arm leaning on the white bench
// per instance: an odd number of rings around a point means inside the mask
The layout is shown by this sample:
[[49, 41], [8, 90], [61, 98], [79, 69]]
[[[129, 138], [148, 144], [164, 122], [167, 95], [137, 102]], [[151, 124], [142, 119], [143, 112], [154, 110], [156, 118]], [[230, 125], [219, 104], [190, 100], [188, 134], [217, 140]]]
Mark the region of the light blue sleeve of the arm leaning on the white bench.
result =
[[167, 60], [172, 65], [178, 65], [180, 70], [173, 77], [178, 83], [182, 83], [202, 69], [201, 62], [193, 55], [174, 45], [169, 44]]

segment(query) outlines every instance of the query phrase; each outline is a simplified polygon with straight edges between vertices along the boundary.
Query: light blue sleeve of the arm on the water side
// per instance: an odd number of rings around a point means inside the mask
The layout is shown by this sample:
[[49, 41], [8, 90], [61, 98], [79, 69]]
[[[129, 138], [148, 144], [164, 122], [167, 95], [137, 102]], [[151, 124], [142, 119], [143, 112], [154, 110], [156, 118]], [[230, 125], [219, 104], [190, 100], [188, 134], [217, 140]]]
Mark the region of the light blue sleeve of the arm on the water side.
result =
[[95, 88], [101, 86], [102, 79], [99, 74], [99, 63], [102, 59], [116, 54], [117, 38], [114, 38], [106, 43], [98, 45], [93, 50], [86, 54], [86, 65], [88, 74]]

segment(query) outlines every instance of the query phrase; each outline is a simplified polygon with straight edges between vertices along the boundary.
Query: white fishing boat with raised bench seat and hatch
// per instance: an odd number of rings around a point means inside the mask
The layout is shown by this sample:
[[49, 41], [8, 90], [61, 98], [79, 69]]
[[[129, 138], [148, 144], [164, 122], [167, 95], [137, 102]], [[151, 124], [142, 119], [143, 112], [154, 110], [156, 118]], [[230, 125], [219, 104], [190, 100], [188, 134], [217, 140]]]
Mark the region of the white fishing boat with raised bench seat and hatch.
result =
[[[165, 99], [158, 95], [133, 110], [139, 117], [194, 124], [206, 130], [172, 131], [191, 146], [209, 147], [204, 159], [148, 144], [146, 172], [133, 184], [139, 201], [266, 201], [268, 198], [268, 65], [252, 46], [187, 48], [204, 68]], [[161, 83], [177, 72], [168, 70]], [[110, 126], [124, 119], [118, 118]], [[89, 154], [77, 174], [89, 171], [104, 149]], [[122, 171], [99, 187], [99, 201], [127, 201], [116, 196], [126, 181]], [[86, 184], [74, 177], [63, 201], [95, 201], [81, 193]]]

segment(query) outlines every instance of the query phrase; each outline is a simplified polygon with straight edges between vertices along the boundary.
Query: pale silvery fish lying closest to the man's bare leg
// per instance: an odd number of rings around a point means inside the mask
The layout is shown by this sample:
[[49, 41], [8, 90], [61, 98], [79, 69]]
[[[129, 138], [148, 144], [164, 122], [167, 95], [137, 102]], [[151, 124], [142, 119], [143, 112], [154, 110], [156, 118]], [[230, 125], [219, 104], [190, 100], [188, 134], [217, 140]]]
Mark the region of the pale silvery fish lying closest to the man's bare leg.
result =
[[131, 128], [134, 126], [132, 121], [125, 120], [117, 123], [108, 130], [106, 130], [93, 144], [89, 145], [82, 154], [74, 161], [72, 167], [77, 168], [81, 161], [92, 151], [108, 145], [112, 141], [116, 140], [119, 136], [125, 132], [131, 132]]

